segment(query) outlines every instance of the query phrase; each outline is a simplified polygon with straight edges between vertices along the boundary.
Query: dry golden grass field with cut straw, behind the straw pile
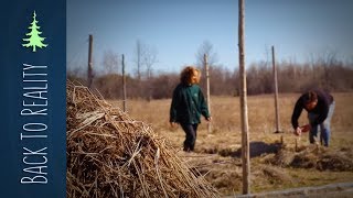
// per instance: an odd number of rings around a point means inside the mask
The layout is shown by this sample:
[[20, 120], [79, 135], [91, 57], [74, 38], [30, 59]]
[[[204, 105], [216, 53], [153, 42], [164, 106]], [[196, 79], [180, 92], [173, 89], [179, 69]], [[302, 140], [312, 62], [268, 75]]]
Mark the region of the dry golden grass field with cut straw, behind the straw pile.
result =
[[[280, 130], [275, 131], [275, 102], [274, 96], [250, 96], [248, 97], [248, 122], [250, 139], [250, 164], [252, 164], [252, 191], [269, 191], [302, 186], [318, 186], [341, 182], [353, 182], [353, 92], [335, 92], [335, 111], [332, 118], [331, 146], [310, 147], [308, 134], [301, 138], [292, 134], [290, 118], [292, 108], [299, 94], [279, 95]], [[121, 107], [121, 101], [108, 101], [114, 106]], [[221, 194], [231, 195], [242, 191], [242, 162], [239, 150], [242, 147], [242, 131], [239, 117], [238, 97], [211, 97], [212, 132], [207, 132], [207, 124], [204, 120], [199, 128], [195, 153], [181, 151], [184, 141], [184, 132], [179, 127], [171, 129], [169, 125], [169, 108], [171, 100], [129, 100], [128, 113], [131, 118], [150, 123], [153, 131], [165, 138], [165, 140], [178, 151], [178, 154], [197, 169], [212, 183]], [[307, 123], [307, 112], [303, 111], [299, 123]], [[279, 145], [282, 139], [284, 144]], [[308, 165], [308, 161], [301, 162], [299, 166], [274, 165], [271, 158], [276, 157], [279, 148], [286, 145], [290, 154], [298, 154], [298, 147], [310, 151], [315, 161]], [[279, 145], [279, 146], [278, 146]], [[302, 148], [303, 150], [303, 148]], [[324, 152], [322, 152], [324, 151]], [[323, 156], [323, 160], [318, 158]], [[341, 155], [335, 160], [328, 156]], [[306, 157], [308, 158], [309, 155]], [[324, 158], [325, 157], [325, 158]], [[310, 157], [309, 157], [310, 158]], [[344, 168], [318, 168], [315, 165], [343, 164]], [[306, 166], [304, 166], [306, 164]]]

